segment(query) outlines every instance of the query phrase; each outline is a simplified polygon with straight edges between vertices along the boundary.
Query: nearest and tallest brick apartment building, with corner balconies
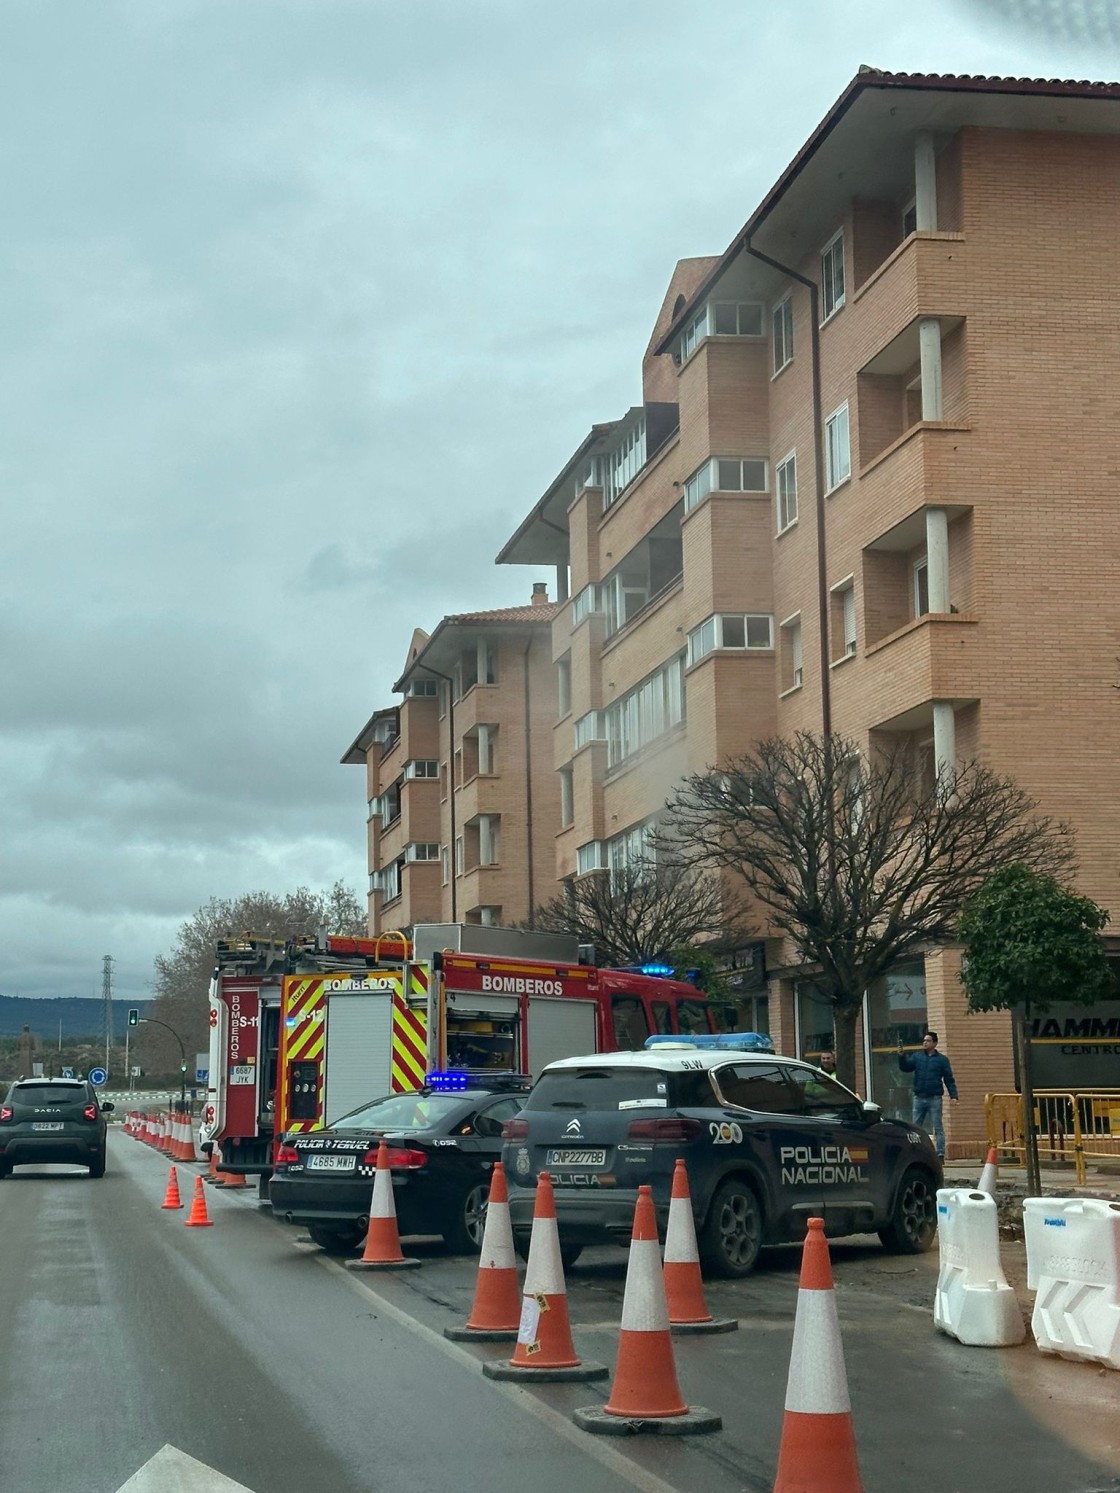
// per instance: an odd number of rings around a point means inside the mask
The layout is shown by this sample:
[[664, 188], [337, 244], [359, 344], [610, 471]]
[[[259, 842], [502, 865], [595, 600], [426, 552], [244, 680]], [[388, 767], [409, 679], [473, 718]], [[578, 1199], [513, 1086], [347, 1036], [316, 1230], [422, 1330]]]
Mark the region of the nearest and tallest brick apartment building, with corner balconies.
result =
[[[1014, 775], [1120, 906], [1117, 203], [1120, 87], [862, 70], [730, 248], [678, 264], [641, 405], [499, 555], [559, 578], [553, 875], [624, 863], [684, 772], [808, 729]], [[818, 1053], [827, 1008], [751, 953], [745, 1015]], [[1012, 1087], [957, 970], [900, 966], [860, 1035], [893, 1108], [897, 1036], [939, 1030], [950, 1154]]]

